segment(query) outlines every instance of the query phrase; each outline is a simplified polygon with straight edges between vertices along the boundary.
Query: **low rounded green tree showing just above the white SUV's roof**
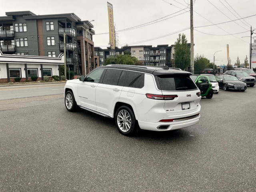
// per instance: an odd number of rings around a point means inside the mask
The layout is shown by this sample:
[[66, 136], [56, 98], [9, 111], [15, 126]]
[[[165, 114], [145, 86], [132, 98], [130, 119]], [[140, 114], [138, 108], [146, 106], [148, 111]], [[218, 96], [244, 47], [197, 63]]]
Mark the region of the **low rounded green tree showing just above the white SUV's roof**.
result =
[[104, 65], [114, 64], [120, 65], [134, 65], [138, 61], [136, 57], [132, 57], [131, 54], [116, 55], [115, 57], [109, 57], [105, 59]]

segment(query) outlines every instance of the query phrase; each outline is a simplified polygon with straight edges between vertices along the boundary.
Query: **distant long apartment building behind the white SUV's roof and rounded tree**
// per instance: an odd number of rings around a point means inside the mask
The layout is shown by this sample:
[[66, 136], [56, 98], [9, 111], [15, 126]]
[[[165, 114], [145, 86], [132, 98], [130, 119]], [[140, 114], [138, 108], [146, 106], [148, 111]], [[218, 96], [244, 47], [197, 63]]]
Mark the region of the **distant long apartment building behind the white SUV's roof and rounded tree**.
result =
[[152, 66], [172, 66], [174, 67], [174, 46], [168, 44], [158, 45], [153, 47], [152, 45], [140, 45], [140, 46], [124, 46], [122, 48], [116, 47], [111, 50], [110, 47], [102, 49], [100, 47], [94, 48], [94, 54], [99, 57], [99, 66], [104, 64], [104, 60], [110, 56], [117, 54], [124, 54], [130, 52], [130, 54], [138, 59], [137, 65], [152, 65]]

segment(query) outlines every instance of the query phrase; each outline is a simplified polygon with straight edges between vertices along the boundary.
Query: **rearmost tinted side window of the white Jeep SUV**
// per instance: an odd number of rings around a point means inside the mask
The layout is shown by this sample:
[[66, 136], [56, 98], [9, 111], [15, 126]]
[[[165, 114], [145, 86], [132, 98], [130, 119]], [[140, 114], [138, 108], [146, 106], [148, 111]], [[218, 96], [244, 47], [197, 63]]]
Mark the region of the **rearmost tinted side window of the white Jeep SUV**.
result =
[[124, 86], [133, 88], [144, 87], [144, 73], [127, 71]]

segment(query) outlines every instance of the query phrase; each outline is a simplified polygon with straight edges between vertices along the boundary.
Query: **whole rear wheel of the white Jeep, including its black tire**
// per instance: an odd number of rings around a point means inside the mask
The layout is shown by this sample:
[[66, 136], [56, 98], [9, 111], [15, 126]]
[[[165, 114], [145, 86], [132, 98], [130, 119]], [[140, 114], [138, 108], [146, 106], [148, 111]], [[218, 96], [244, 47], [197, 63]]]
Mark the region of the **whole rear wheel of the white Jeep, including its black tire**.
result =
[[[126, 122], [122, 121], [122, 118], [120, 116], [118, 116], [119, 113], [122, 114], [121, 111], [122, 112], [127, 112], [130, 116], [130, 118], [129, 118], [128, 115], [127, 116], [126, 115], [124, 115], [124, 116], [121, 115], [122, 117], [125, 118]], [[116, 122], [116, 127], [117, 127], [118, 131], [120, 133], [122, 133], [123, 135], [125, 135], [125, 136], [133, 136], [137, 131], [137, 129], [136, 129], [136, 118], [134, 116], [133, 111], [127, 106], [121, 106], [116, 110], [115, 122]], [[125, 126], [124, 123], [126, 123], [127, 126]], [[128, 124], [130, 124], [130, 128], [128, 128]]]

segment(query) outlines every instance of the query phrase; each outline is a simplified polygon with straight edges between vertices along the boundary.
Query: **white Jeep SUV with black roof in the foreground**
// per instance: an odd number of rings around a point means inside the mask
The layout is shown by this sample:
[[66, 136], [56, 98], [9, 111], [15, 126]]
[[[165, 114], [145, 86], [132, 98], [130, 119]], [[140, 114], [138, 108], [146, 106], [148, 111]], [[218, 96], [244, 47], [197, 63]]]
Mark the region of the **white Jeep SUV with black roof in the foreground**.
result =
[[200, 90], [191, 73], [178, 68], [108, 65], [68, 80], [65, 106], [114, 118], [118, 130], [175, 130], [198, 123]]

